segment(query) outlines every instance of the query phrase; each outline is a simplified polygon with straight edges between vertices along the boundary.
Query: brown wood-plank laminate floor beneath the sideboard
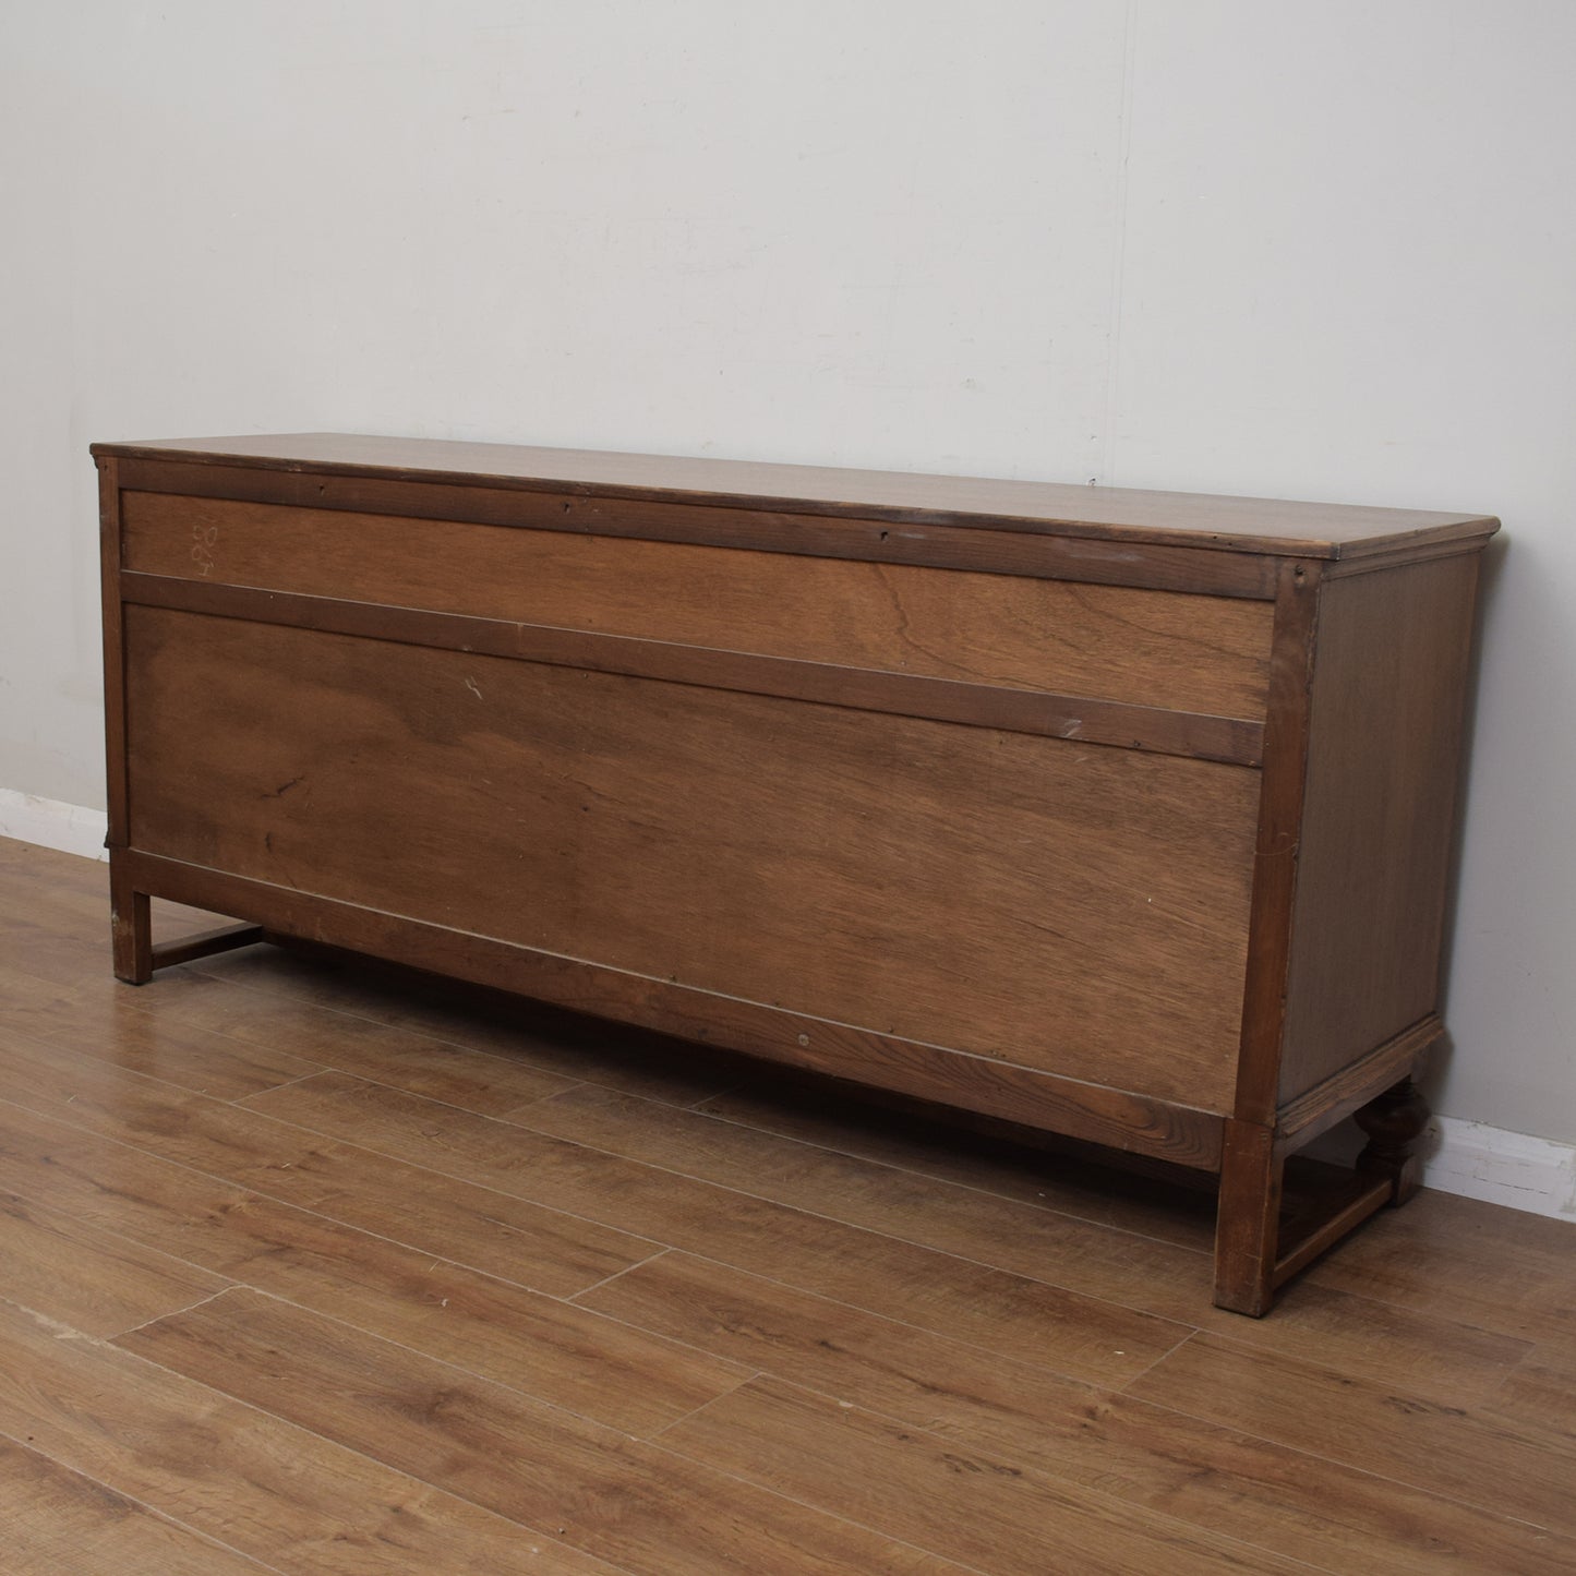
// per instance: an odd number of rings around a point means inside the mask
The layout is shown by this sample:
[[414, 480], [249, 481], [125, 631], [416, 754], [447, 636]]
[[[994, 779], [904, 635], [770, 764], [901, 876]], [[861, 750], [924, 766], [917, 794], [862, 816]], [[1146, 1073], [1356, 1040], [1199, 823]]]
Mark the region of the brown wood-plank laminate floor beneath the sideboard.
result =
[[[0, 1570], [1576, 1570], [1576, 1228], [1209, 1196], [0, 842]], [[165, 905], [170, 938], [211, 925]]]

